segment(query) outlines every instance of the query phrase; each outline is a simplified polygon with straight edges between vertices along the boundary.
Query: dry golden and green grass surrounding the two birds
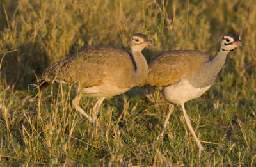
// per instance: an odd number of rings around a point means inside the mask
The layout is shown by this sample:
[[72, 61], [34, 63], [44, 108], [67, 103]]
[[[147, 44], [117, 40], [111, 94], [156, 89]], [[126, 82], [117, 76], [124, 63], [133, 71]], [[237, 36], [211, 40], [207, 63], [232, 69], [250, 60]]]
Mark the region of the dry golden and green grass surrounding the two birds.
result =
[[[1, 166], [255, 166], [256, 3], [234, 1], [30, 1], [0, 4]], [[145, 33], [156, 47], [150, 60], [170, 49], [214, 56], [221, 36], [237, 33], [245, 47], [230, 53], [202, 97], [186, 104], [202, 141], [198, 148], [175, 106], [163, 140], [157, 135], [168, 109], [159, 91], [139, 88], [104, 100], [92, 125], [72, 107], [75, 92], [54, 84], [36, 97], [36, 76], [89, 45], [129, 50], [127, 38]], [[144, 86], [150, 91], [149, 86]], [[81, 106], [92, 111], [95, 98]]]

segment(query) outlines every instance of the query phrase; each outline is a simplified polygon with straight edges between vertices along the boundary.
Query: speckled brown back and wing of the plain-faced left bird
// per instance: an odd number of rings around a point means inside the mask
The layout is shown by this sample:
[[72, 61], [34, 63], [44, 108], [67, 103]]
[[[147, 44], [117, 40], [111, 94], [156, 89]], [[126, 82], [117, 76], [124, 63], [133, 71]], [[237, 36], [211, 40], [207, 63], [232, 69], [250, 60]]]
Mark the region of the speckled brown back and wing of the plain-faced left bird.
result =
[[88, 47], [48, 67], [40, 80], [50, 82], [54, 79], [67, 83], [80, 82], [84, 87], [111, 83], [127, 86], [132, 77], [134, 62], [128, 52], [116, 47]]

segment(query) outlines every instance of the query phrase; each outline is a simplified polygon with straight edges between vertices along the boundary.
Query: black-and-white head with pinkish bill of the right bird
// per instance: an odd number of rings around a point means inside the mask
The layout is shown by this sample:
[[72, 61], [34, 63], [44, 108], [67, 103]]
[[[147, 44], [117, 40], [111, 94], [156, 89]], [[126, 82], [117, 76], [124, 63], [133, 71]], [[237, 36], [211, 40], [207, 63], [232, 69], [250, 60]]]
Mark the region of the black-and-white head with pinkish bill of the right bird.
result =
[[223, 51], [234, 51], [236, 47], [243, 46], [244, 44], [241, 42], [240, 36], [228, 33], [227, 35], [223, 35], [220, 45]]

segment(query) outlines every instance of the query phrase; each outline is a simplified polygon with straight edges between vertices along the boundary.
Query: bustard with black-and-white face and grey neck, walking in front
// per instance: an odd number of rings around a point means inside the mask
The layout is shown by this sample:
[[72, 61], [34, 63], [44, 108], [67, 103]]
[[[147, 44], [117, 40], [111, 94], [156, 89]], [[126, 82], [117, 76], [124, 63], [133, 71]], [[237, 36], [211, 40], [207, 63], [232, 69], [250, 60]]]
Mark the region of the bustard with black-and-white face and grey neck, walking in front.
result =
[[[148, 63], [147, 84], [162, 88], [166, 100], [181, 106], [186, 125], [195, 139], [199, 153], [204, 150], [204, 147], [196, 137], [184, 104], [205, 93], [214, 84], [228, 53], [243, 45], [238, 35], [228, 33], [223, 35], [220, 51], [214, 58], [195, 50], [171, 50], [162, 52]], [[162, 132], [157, 139], [163, 137], [166, 122], [172, 111], [173, 107], [170, 109], [169, 106]]]

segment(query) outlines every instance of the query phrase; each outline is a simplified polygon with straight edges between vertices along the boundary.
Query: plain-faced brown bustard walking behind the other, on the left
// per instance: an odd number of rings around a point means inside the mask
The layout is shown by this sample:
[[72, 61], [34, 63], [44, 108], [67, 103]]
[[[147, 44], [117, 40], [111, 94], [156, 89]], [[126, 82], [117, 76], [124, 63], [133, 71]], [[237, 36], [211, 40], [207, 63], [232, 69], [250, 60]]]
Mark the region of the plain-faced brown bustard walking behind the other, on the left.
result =
[[[71, 54], [44, 70], [38, 79], [40, 88], [54, 81], [74, 85], [77, 95], [72, 105], [95, 124], [106, 97], [120, 95], [147, 82], [148, 64], [141, 51], [154, 43], [142, 33], [131, 35], [128, 43], [131, 52], [112, 46], [91, 46]], [[92, 109], [92, 117], [79, 106], [81, 96], [99, 98]]]

